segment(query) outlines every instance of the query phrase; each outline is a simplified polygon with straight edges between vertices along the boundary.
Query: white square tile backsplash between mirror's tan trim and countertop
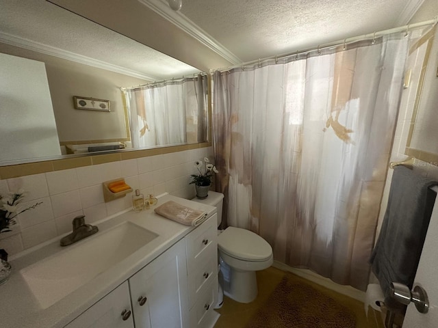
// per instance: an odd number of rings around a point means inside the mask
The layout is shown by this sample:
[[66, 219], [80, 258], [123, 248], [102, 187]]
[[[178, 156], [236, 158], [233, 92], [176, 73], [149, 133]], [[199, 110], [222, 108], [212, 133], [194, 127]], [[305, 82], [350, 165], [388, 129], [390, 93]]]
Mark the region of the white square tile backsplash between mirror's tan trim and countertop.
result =
[[194, 161], [208, 156], [213, 148], [196, 148], [138, 159], [112, 161], [0, 180], [0, 195], [24, 189], [23, 208], [42, 202], [34, 210], [19, 215], [12, 232], [0, 234], [0, 248], [14, 255], [71, 231], [71, 221], [86, 215], [93, 223], [131, 207], [131, 193], [105, 203], [102, 182], [125, 178], [134, 190], [147, 195], [164, 192], [191, 199], [195, 195], [190, 174]]

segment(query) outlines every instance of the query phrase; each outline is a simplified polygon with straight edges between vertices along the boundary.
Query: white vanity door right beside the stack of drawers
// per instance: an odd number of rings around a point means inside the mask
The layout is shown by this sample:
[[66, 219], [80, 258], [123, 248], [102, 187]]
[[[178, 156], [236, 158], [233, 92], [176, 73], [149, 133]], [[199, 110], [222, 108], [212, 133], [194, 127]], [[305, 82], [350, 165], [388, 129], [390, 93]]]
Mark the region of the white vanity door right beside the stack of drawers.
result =
[[187, 285], [182, 239], [129, 279], [136, 328], [189, 327]]

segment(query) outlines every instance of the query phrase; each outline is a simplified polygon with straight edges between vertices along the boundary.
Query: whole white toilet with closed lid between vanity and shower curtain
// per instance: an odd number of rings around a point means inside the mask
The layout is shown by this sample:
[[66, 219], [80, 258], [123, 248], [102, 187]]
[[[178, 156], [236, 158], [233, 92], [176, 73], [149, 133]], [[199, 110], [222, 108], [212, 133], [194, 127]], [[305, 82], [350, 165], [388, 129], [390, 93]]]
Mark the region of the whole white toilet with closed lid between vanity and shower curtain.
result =
[[[218, 208], [218, 227], [222, 222], [224, 195], [209, 191], [208, 197], [194, 202]], [[257, 297], [255, 271], [267, 269], [274, 262], [272, 247], [261, 236], [242, 228], [218, 230], [218, 255], [224, 294], [240, 303], [250, 303]]]

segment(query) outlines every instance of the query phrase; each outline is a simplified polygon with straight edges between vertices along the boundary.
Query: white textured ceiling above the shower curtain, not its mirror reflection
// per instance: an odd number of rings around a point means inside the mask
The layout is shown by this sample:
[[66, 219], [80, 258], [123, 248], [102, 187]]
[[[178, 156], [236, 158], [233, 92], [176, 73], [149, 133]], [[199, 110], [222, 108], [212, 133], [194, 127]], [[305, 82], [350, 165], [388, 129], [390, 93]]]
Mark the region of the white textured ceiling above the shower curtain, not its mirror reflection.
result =
[[251, 61], [407, 24], [402, 14], [422, 2], [183, 0], [181, 13], [242, 61]]

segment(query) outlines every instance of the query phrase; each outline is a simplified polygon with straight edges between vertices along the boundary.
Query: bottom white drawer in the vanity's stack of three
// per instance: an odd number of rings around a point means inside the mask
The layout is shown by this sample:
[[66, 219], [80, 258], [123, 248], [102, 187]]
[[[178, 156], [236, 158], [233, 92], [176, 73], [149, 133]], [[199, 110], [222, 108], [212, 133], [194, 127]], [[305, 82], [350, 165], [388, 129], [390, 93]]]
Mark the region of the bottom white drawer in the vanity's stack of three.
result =
[[198, 295], [196, 303], [190, 310], [190, 327], [192, 328], [208, 327], [211, 320], [214, 320], [216, 314], [214, 305], [218, 299], [218, 279], [212, 280], [211, 284], [206, 287], [201, 295]]

